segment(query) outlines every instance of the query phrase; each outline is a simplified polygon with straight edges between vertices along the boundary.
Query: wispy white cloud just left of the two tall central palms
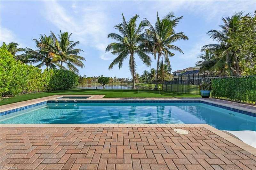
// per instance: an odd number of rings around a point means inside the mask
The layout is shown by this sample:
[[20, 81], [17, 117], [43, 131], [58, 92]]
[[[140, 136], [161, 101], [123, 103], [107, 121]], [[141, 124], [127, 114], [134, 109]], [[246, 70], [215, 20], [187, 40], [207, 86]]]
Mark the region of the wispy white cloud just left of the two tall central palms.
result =
[[52, 24], [62, 31], [73, 33], [73, 38], [82, 45], [98, 50], [101, 59], [112, 59], [105, 57], [105, 48], [108, 44], [106, 27], [109, 17], [102, 5], [78, 6], [73, 3], [71, 8], [79, 14], [72, 13], [74, 11], [68, 12], [56, 1], [45, 2], [45, 8], [47, 8], [45, 17]]

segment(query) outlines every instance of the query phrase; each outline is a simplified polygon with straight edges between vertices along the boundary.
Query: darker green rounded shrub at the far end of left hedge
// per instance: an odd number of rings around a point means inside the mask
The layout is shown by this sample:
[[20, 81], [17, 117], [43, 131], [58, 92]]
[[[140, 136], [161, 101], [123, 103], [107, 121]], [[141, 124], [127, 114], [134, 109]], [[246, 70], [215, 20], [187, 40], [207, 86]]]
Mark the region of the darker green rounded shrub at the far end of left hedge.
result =
[[54, 70], [47, 90], [65, 90], [74, 89], [78, 85], [78, 75], [69, 70]]

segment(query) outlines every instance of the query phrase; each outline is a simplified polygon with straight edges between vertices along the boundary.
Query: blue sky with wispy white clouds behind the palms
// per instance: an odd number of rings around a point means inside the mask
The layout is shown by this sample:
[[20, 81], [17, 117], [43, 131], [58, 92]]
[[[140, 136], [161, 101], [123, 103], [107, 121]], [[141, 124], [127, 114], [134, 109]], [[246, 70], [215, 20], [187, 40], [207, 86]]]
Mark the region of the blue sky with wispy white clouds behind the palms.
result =
[[[202, 54], [202, 46], [216, 43], [206, 34], [211, 29], [219, 30], [221, 18], [232, 16], [234, 12], [253, 13], [256, 1], [0, 1], [0, 43], [17, 42], [22, 47], [36, 49], [33, 39], [42, 35], [55, 35], [67, 31], [72, 33], [71, 40], [79, 41], [77, 48], [86, 61], [79, 68], [80, 75], [131, 77], [128, 59], [119, 70], [118, 66], [108, 70], [108, 66], [116, 57], [105, 53], [109, 43], [109, 33], [118, 33], [114, 26], [122, 21], [122, 13], [126, 20], [139, 14], [138, 24], [147, 18], [151, 24], [159, 17], [174, 12], [176, 17], [183, 16], [176, 32], [184, 32], [189, 40], [175, 42], [184, 54], [172, 51], [170, 58], [172, 71], [194, 67], [197, 57]], [[152, 57], [151, 68], [156, 68]], [[142, 74], [150, 70], [135, 56], [136, 72]]]

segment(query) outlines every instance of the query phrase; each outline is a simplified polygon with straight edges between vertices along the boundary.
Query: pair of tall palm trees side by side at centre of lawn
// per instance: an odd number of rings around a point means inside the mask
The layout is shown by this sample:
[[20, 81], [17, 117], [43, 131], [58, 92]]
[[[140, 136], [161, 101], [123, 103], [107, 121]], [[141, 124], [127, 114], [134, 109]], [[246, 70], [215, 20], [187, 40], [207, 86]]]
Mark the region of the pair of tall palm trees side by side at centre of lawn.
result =
[[[152, 54], [155, 59], [157, 55], [156, 70], [151, 69], [148, 80], [159, 81], [159, 64], [161, 63], [162, 69], [171, 70], [169, 57], [174, 56], [171, 50], [183, 53], [179, 47], [172, 45], [172, 43], [178, 40], [188, 40], [188, 37], [183, 32], [175, 33], [174, 30], [182, 17], [176, 18], [173, 13], [169, 13], [160, 19], [158, 13], [156, 13], [156, 23], [155, 27], [153, 27], [148, 19], [142, 20], [137, 26], [138, 14], [134, 15], [128, 22], [123, 14], [122, 16], [123, 21], [114, 26], [120, 35], [116, 33], [108, 35], [108, 38], [113, 38], [117, 41], [117, 43], [110, 43], [106, 48], [106, 52], [111, 51], [112, 54], [117, 55], [110, 64], [109, 69], [112, 69], [116, 64], [120, 69], [124, 60], [129, 58], [129, 68], [133, 82], [132, 88], [135, 89], [135, 82], [138, 80], [135, 55], [138, 55], [146, 66], [151, 65], [149, 54]], [[157, 89], [157, 83], [155, 89]]]

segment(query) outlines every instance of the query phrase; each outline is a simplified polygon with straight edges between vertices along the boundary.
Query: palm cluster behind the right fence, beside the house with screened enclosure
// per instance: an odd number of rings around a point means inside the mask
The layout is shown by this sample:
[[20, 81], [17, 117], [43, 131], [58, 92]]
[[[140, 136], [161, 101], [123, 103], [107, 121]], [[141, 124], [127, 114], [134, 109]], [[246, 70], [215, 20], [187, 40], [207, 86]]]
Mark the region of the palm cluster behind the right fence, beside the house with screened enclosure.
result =
[[[246, 14], [245, 16], [249, 15]], [[228, 42], [230, 34], [236, 33], [238, 22], [243, 18], [243, 12], [234, 13], [231, 17], [222, 18], [223, 25], [220, 25], [220, 31], [212, 29], [207, 32], [208, 35], [219, 44], [208, 44], [202, 47], [204, 54], [198, 58], [202, 60], [196, 63], [201, 71], [232, 76], [240, 75], [239, 58], [236, 51], [230, 49]]]

